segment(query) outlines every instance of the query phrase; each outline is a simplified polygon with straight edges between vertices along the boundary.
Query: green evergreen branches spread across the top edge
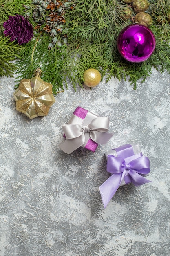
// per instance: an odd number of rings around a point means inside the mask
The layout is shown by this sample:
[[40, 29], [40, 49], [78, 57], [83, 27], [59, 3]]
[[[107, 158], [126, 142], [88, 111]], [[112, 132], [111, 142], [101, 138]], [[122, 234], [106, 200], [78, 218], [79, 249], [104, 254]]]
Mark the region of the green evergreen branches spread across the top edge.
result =
[[[56, 94], [67, 88], [68, 81], [75, 90], [77, 85], [82, 86], [83, 74], [88, 68], [99, 70], [102, 77], [106, 75], [107, 81], [112, 76], [119, 80], [128, 78], [134, 89], [138, 80], [142, 82], [152, 74], [153, 67], [160, 72], [170, 72], [169, 0], [149, 0], [150, 7], [146, 12], [152, 16], [150, 29], [155, 34], [156, 48], [152, 56], [142, 63], [124, 60], [117, 50], [117, 36], [124, 27], [132, 24], [131, 19], [124, 20], [127, 4], [119, 0], [69, 1], [73, 3], [73, 8], [65, 11], [67, 43], [63, 43], [62, 33], [58, 32], [57, 43], [53, 43], [53, 37], [43, 30], [44, 14], [40, 17], [42, 25], [35, 30], [33, 39], [18, 46], [17, 42], [11, 43], [9, 38], [4, 37], [3, 22], [9, 15], [24, 16], [29, 11], [29, 22], [35, 27], [37, 23], [33, 20], [33, 12], [36, 4], [31, 0], [19, 3], [18, 0], [0, 0], [0, 76], [12, 76], [15, 70], [19, 82], [22, 78], [31, 78], [34, 70], [40, 67], [42, 79], [52, 83], [53, 94]], [[24, 5], [29, 9], [25, 10]], [[133, 10], [132, 16], [135, 16]], [[161, 25], [157, 23], [158, 16], [161, 17]]]

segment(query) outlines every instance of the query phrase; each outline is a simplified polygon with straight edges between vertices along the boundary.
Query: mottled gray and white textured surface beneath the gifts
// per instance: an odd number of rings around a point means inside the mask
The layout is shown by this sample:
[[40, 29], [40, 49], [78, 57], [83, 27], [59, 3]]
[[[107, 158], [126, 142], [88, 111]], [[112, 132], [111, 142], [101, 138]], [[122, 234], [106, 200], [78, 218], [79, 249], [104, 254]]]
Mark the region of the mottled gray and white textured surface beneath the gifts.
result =
[[[0, 81], [0, 256], [170, 256], [170, 75], [153, 70], [136, 91], [116, 78], [69, 85], [33, 120], [16, 111], [14, 79]], [[77, 106], [110, 119], [95, 153], [58, 147]], [[149, 157], [153, 183], [119, 188], [104, 209], [104, 153], [127, 143]]]

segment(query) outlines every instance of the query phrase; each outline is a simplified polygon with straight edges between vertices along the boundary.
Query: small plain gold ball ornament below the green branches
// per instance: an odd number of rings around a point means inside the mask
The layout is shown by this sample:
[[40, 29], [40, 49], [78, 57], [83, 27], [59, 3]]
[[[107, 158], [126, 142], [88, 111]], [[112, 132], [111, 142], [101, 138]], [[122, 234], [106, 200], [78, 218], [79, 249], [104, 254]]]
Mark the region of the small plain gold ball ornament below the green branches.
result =
[[95, 87], [101, 81], [101, 74], [95, 68], [89, 68], [84, 72], [83, 78], [84, 78], [84, 84], [86, 86]]

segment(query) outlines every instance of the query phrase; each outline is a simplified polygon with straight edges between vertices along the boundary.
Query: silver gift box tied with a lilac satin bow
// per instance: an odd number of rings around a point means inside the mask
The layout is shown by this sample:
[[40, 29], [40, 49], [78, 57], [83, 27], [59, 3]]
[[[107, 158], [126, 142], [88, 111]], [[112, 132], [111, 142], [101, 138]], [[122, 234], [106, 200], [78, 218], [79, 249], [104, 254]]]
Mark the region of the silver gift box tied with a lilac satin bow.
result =
[[141, 186], [151, 182], [145, 178], [150, 172], [150, 161], [148, 157], [143, 156], [138, 144], [126, 144], [107, 151], [105, 155], [107, 171], [111, 176], [99, 187], [104, 208], [119, 186], [131, 182], [135, 186]]

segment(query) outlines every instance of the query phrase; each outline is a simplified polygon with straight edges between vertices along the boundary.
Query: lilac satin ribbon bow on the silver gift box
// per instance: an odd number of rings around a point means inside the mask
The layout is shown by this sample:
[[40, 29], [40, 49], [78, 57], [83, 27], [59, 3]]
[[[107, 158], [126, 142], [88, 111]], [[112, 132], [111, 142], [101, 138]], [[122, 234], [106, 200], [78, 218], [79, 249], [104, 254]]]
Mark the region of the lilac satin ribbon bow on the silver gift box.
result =
[[148, 157], [141, 156], [127, 163], [122, 157], [108, 155], [107, 171], [113, 175], [99, 187], [104, 208], [119, 188], [126, 173], [130, 175], [135, 186], [151, 182], [142, 176], [150, 172]]

